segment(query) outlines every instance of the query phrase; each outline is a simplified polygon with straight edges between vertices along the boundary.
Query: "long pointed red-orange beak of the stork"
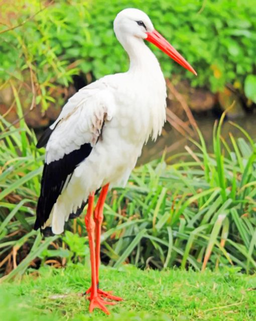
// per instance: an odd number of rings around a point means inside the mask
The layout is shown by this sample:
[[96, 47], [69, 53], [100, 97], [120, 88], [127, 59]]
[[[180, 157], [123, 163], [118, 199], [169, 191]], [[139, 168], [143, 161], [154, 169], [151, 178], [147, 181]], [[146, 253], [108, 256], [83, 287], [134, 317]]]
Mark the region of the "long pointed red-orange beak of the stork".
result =
[[176, 49], [173, 48], [171, 44], [156, 30], [153, 32], [147, 32], [148, 37], [145, 40], [153, 43], [159, 49], [161, 49], [164, 53], [166, 53], [173, 60], [178, 62], [182, 67], [188, 69], [193, 74], [197, 75], [194, 68], [190, 66], [190, 64], [185, 60], [180, 53]]

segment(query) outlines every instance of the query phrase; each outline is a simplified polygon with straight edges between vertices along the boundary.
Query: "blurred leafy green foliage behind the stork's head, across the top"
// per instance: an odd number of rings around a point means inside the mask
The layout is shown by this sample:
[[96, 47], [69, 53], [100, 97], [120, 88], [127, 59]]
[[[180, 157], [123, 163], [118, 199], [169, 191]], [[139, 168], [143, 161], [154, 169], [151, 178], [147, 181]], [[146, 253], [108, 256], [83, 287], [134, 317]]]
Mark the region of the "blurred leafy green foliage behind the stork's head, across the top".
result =
[[[3, 6], [3, 18], [17, 11], [12, 25], [26, 21], [41, 7], [37, 0], [20, 2], [15, 9]], [[47, 5], [47, 3], [45, 4]], [[198, 72], [195, 77], [160, 50], [152, 49], [167, 77], [190, 79], [193, 86], [223, 89], [226, 83], [245, 89], [255, 102], [256, 6], [254, 0], [109, 0], [55, 2], [23, 26], [1, 35], [0, 78], [28, 81], [33, 70], [38, 85], [37, 103], [46, 109], [56, 84], [67, 86], [75, 73], [93, 78], [125, 71], [127, 57], [115, 39], [112, 22], [124, 8], [139, 8], [152, 18], [159, 30]], [[1, 30], [7, 29], [2, 26]], [[1, 32], [0, 30], [0, 32]], [[246, 77], [247, 76], [247, 77]]]

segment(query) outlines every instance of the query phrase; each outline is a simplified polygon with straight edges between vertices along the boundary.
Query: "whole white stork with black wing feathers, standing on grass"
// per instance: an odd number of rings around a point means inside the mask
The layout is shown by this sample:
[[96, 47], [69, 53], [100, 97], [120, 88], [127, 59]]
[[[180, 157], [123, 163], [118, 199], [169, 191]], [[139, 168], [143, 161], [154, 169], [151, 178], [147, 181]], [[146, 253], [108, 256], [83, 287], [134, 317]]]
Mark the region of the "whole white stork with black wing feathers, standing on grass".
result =
[[[121, 300], [99, 289], [100, 232], [108, 188], [124, 186], [149, 137], [156, 140], [166, 119], [166, 84], [148, 40], [184, 68], [189, 63], [138, 9], [125, 9], [114, 20], [114, 32], [130, 58], [127, 72], [107, 75], [80, 89], [39, 140], [46, 158], [35, 229], [60, 234], [69, 218], [88, 202], [91, 287], [89, 311], [109, 313], [107, 299]], [[101, 189], [94, 209], [94, 193]]]

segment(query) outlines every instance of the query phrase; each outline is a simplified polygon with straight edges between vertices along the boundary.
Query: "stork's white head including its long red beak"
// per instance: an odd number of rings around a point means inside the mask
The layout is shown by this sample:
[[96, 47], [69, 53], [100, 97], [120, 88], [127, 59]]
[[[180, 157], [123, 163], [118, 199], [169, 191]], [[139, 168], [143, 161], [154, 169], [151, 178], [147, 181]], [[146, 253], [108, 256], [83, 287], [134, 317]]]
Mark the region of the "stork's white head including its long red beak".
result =
[[153, 43], [182, 67], [197, 75], [196, 71], [181, 54], [155, 30], [149, 16], [143, 11], [138, 9], [124, 9], [119, 12], [114, 20], [114, 33], [121, 43], [121, 40], [125, 36], [134, 36]]

